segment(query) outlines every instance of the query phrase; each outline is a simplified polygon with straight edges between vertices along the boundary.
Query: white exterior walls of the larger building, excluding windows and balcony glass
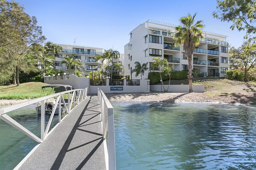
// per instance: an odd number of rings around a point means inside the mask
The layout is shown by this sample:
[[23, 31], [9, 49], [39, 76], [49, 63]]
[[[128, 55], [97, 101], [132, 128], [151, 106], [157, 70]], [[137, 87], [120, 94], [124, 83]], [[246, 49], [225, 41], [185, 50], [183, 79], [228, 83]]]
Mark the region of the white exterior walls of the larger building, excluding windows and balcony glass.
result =
[[[175, 43], [176, 40], [173, 39], [173, 37], [169, 37], [166, 35], [158, 35], [158, 34], [153, 34], [150, 32], [150, 29], [152, 30], [158, 30], [161, 31], [161, 33], [167, 32], [167, 29], [163, 29], [163, 26], [167, 25], [161, 24], [161, 23], [153, 23], [155, 24], [154, 26], [149, 26], [150, 22], [146, 22], [143, 24], [140, 24], [137, 26], [134, 30], [130, 32], [132, 34], [132, 37], [130, 38], [129, 43], [125, 45], [125, 65], [129, 65], [132, 69], [134, 69], [134, 62], [138, 61], [141, 64], [142, 63], [148, 63], [149, 67], [149, 62], [152, 62], [152, 59], [154, 57], [151, 56], [146, 56], [145, 57], [145, 49], [148, 49], [148, 55], [149, 55], [149, 48], [151, 49], [161, 49], [162, 50], [162, 58], [164, 58], [164, 55], [173, 55], [173, 58], [179, 58], [180, 63], [169, 63], [171, 66], [174, 64], [174, 69], [175, 71], [181, 71], [182, 70], [182, 65], [188, 65], [188, 60], [182, 59], [182, 52], [183, 48], [181, 47], [180, 50], [174, 50], [174, 49], [164, 49], [164, 43]], [[152, 22], [151, 22], [152, 23]], [[173, 25], [168, 25], [168, 30], [174, 30]], [[148, 43], [145, 43], [145, 36], [148, 35]], [[162, 43], [149, 43], [149, 35], [156, 35], [156, 36], [161, 36], [162, 37]], [[219, 45], [217, 41], [213, 43], [213, 40], [219, 40], [219, 41], [226, 41], [226, 36], [224, 35], [218, 35], [214, 33], [207, 33], [204, 32], [204, 39], [210, 39], [212, 40], [211, 43], [205, 42], [205, 41], [200, 41], [200, 44], [198, 46], [199, 49], [205, 49], [206, 53], [199, 53], [199, 52], [194, 52], [193, 58], [198, 58], [198, 60], [205, 61], [206, 65], [202, 64], [193, 64], [192, 68], [195, 68], [199, 70], [199, 72], [206, 72], [208, 74], [208, 69], [219, 69], [220, 72], [220, 67], [225, 67], [228, 68], [227, 63], [220, 63], [220, 56], [221, 57], [228, 57], [228, 53], [222, 53], [221, 52], [221, 46], [224, 45]], [[129, 35], [130, 36], [130, 35]], [[132, 45], [132, 49], [129, 49], [129, 45]], [[213, 48], [218, 48], [218, 51], [220, 55], [210, 55], [208, 54], [208, 49], [213, 49]], [[128, 59], [128, 55], [132, 56], [132, 61]], [[219, 61], [219, 66], [208, 66], [208, 59], [213, 59], [213, 58], [218, 58]], [[193, 63], [193, 60], [192, 60]], [[127, 70], [128, 69], [128, 70]], [[130, 69], [125, 67], [125, 72], [129, 73]], [[148, 78], [148, 73], [150, 70], [145, 71], [145, 74], [142, 78]], [[130, 73], [131, 74], [131, 73]], [[224, 77], [225, 74], [220, 74], [220, 77]], [[132, 74], [132, 78], [135, 77], [135, 73]], [[139, 76], [140, 77], [140, 76]]]

